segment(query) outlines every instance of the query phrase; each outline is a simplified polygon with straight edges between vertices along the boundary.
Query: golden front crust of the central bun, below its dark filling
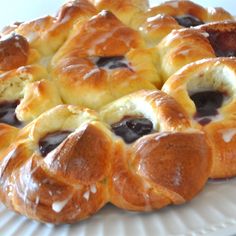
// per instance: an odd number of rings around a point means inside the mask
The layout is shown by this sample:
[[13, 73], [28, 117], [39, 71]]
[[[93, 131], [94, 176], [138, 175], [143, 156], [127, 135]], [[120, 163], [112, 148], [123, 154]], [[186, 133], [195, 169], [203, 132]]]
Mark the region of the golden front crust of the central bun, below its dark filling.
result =
[[62, 61], [54, 70], [54, 80], [66, 103], [93, 109], [99, 109], [130, 92], [155, 88], [152, 83], [129, 68], [106, 70], [97, 67], [91, 59], [85, 58]]

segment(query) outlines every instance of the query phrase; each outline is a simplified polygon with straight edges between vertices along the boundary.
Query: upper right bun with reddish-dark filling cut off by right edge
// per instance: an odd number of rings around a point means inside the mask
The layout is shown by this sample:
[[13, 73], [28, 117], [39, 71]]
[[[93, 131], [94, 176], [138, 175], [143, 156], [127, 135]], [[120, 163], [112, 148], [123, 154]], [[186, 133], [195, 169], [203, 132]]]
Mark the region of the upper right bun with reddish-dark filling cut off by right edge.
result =
[[173, 30], [157, 46], [163, 80], [191, 62], [203, 58], [235, 56], [235, 42], [235, 21]]

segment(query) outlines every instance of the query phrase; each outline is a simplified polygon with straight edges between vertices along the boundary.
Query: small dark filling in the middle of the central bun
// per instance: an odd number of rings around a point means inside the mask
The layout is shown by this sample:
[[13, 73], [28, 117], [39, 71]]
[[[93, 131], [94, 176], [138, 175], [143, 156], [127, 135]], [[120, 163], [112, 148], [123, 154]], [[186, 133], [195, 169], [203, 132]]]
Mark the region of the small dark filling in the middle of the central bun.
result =
[[128, 62], [123, 56], [100, 57], [96, 65], [98, 67], [107, 67], [108, 69], [129, 68]]

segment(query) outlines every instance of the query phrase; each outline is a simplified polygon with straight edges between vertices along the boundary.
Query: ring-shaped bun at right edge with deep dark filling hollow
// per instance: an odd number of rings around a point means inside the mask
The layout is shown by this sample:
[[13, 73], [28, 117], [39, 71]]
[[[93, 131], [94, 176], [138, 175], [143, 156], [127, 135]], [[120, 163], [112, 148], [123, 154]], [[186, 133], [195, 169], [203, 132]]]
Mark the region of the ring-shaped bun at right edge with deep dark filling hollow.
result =
[[236, 175], [235, 80], [236, 60], [214, 58], [183, 67], [163, 86], [193, 126], [206, 133], [213, 152], [211, 178]]

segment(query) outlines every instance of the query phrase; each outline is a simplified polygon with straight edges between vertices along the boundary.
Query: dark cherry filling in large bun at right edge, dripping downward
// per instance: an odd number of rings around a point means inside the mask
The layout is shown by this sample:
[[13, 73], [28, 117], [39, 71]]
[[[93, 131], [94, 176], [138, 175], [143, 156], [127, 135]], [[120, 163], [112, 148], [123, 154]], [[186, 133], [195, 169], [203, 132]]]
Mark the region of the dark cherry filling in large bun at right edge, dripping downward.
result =
[[225, 93], [220, 91], [203, 91], [192, 94], [190, 98], [197, 109], [194, 118], [201, 125], [206, 125], [211, 122], [210, 117], [218, 115], [217, 109], [222, 106]]

